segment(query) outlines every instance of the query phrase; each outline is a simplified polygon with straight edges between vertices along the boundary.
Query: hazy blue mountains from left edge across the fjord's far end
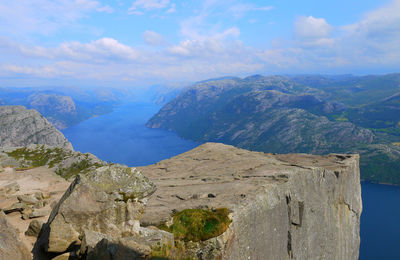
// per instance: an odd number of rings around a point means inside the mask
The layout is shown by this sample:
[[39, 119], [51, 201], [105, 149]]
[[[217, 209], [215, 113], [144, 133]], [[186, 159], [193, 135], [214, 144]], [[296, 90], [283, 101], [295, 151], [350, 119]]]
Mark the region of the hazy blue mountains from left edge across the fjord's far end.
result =
[[153, 102], [163, 105], [175, 98], [181, 88], [163, 85], [149, 88], [0, 87], [0, 106], [21, 105], [35, 109], [62, 130], [91, 117], [112, 112], [125, 102]]

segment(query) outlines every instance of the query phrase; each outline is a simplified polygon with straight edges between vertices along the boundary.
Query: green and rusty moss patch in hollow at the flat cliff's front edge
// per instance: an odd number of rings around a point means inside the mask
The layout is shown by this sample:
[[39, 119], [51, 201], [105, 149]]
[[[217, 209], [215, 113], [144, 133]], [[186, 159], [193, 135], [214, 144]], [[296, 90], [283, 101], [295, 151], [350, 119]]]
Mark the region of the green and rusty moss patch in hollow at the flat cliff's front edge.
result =
[[159, 226], [160, 229], [174, 234], [176, 240], [204, 241], [224, 233], [231, 223], [229, 210], [185, 209], [173, 216], [170, 227]]

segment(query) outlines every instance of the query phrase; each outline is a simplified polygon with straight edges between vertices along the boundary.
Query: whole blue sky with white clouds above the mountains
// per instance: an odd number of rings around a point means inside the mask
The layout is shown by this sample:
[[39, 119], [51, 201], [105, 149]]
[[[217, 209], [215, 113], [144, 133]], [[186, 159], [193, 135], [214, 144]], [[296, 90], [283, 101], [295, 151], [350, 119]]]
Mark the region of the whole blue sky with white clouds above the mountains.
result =
[[400, 72], [400, 0], [0, 0], [0, 85]]

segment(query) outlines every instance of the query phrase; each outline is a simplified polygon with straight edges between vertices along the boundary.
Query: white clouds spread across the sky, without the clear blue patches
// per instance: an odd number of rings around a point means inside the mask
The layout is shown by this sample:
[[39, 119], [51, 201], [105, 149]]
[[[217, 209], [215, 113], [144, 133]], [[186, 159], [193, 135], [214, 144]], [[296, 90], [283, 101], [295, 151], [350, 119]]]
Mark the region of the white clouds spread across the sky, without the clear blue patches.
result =
[[[69, 26], [90, 12], [113, 13], [115, 7], [92, 0], [21, 0], [0, 3], [0, 20], [6, 24], [25, 19], [26, 30], [48, 34]], [[230, 5], [226, 1], [204, 1], [195, 15], [178, 22], [180, 39], [169, 42], [167, 35], [147, 28], [140, 35], [144, 44], [123, 43], [115, 37], [91, 41], [63, 41], [56, 46], [31, 44], [2, 29], [0, 38], [0, 75], [38, 78], [155, 83], [171, 80], [201, 80], [223, 75], [253, 73], [329, 73], [368, 71], [400, 67], [400, 0], [391, 1], [353, 24], [334, 26], [324, 17], [299, 16], [292, 25], [291, 37], [280, 38], [274, 47], [251, 46], [241, 38], [241, 28], [214, 22], [220, 10], [232, 19], [248, 12], [273, 12], [272, 6]], [[36, 8], [46, 8], [40, 17]], [[14, 12], [15, 17], [4, 13]], [[130, 14], [154, 10], [179, 12], [170, 0], [137, 0], [126, 7]], [[22, 18], [25, 17], [25, 18]], [[13, 25], [16, 28], [16, 24]], [[23, 26], [22, 26], [23, 27]], [[21, 27], [21, 28], [22, 28]], [[262, 36], [260, 36], [262, 37]], [[277, 47], [278, 46], [278, 47]]]

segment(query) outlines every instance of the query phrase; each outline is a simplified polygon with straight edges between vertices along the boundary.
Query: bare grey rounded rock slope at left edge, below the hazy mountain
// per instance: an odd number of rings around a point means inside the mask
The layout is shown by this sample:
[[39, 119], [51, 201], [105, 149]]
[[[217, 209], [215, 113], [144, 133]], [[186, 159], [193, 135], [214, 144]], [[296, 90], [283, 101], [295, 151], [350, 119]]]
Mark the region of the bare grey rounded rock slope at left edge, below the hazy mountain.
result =
[[71, 143], [35, 110], [0, 106], [0, 146], [47, 144], [72, 149]]

